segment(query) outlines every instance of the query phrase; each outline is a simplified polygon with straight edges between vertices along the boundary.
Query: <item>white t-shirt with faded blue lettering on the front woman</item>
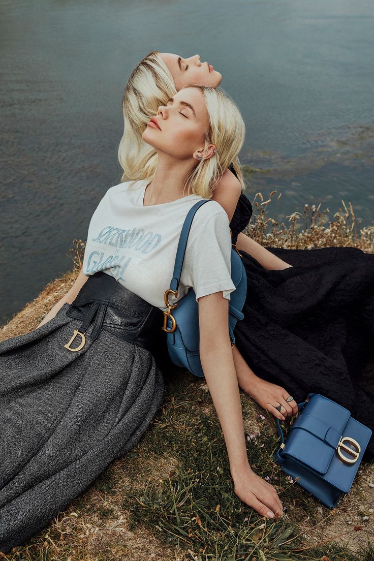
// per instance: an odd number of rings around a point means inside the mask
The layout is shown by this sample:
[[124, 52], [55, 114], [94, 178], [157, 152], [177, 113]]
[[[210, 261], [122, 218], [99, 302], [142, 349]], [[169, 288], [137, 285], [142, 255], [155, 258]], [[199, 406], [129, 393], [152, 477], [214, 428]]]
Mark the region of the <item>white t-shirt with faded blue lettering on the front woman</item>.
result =
[[[146, 180], [110, 187], [90, 220], [83, 272], [102, 270], [123, 286], [167, 310], [164, 292], [170, 287], [179, 235], [190, 208], [201, 200], [188, 195], [158, 205], [143, 205]], [[196, 301], [223, 291], [230, 300], [235, 290], [231, 278], [229, 219], [217, 201], [202, 205], [192, 220], [184, 255], [178, 302], [192, 287]]]

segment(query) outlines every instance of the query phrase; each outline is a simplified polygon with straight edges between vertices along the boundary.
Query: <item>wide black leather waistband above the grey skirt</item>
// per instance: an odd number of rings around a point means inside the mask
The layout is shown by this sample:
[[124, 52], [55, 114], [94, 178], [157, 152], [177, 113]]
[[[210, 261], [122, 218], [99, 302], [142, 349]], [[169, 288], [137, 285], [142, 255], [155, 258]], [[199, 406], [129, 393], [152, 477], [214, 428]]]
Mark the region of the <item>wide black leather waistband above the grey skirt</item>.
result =
[[153, 353], [164, 338], [163, 312], [103, 271], [89, 276], [66, 314], [82, 320], [82, 333], [94, 321], [93, 340], [105, 329]]

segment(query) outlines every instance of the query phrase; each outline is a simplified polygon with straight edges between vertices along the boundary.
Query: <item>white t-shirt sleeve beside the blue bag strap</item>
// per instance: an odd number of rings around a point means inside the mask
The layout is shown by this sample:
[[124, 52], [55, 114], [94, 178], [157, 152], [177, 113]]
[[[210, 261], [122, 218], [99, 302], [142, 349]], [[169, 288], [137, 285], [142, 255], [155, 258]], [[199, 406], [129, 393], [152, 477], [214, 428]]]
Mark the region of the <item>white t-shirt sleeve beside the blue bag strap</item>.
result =
[[225, 212], [219, 212], [207, 218], [204, 224], [196, 226], [193, 233], [191, 228], [185, 255], [186, 270], [189, 272], [187, 282], [195, 291], [196, 302], [201, 296], [220, 291], [224, 298], [230, 300], [235, 285], [231, 278], [228, 216]]

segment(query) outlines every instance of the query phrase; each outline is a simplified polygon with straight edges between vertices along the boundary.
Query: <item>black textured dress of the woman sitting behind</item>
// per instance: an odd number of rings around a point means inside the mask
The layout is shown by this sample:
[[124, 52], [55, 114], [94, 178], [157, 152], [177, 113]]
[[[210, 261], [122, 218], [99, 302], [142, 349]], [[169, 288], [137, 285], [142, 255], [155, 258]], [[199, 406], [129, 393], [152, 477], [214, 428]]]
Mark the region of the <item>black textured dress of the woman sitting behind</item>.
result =
[[[245, 199], [230, 222], [233, 243], [252, 215]], [[292, 267], [266, 270], [240, 250], [248, 286], [234, 330], [239, 352], [297, 403], [320, 393], [374, 434], [374, 255], [354, 247], [266, 249]], [[373, 457], [372, 435], [363, 459]]]

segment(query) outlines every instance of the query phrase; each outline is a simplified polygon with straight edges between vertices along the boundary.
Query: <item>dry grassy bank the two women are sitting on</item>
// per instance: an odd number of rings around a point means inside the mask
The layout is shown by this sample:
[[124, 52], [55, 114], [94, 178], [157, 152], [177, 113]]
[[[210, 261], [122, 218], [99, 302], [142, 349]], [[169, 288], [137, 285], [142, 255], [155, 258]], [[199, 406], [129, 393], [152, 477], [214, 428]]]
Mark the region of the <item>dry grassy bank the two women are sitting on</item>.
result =
[[[339, 209], [329, 226], [324, 225], [320, 206], [313, 205], [303, 216], [290, 215], [286, 227], [267, 217], [275, 192], [266, 200], [258, 193], [253, 201], [247, 233], [258, 243], [289, 249], [353, 246], [374, 252], [374, 227], [357, 231], [352, 205], [348, 211], [343, 204], [344, 211]], [[269, 225], [273, 229], [267, 233]], [[13, 316], [0, 330], [0, 340], [34, 329], [72, 286], [82, 264], [84, 243], [74, 240], [73, 245], [73, 269], [50, 282]], [[270, 477], [287, 507], [279, 520], [265, 520], [233, 493], [223, 436], [204, 380], [176, 369], [165, 381], [163, 406], [141, 442], [108, 466], [48, 527], [11, 554], [0, 553], [0, 558], [374, 559], [368, 542], [374, 537], [374, 488], [369, 486], [374, 483], [372, 465], [361, 465], [352, 490], [338, 508], [325, 508], [290, 482], [273, 462], [278, 447], [274, 418], [265, 413], [262, 420], [264, 410], [242, 392], [244, 427], [248, 435], [256, 435], [248, 445], [248, 458], [258, 475]]]

